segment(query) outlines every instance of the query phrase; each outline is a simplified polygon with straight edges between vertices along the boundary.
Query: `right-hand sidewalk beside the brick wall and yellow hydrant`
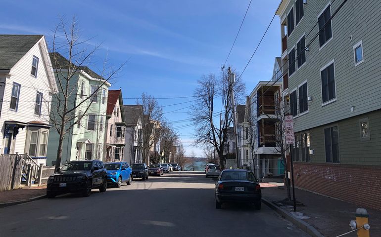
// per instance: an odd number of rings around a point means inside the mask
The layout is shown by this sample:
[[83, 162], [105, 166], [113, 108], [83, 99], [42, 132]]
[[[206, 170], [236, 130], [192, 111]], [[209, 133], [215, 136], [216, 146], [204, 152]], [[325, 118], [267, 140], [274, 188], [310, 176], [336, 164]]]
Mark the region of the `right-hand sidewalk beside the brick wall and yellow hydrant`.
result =
[[[271, 187], [271, 185], [275, 187]], [[276, 187], [278, 186], [278, 187]], [[292, 189], [291, 189], [292, 196]], [[301, 189], [295, 189], [296, 200], [302, 206], [297, 206], [297, 212], [303, 214], [299, 219], [313, 226], [325, 237], [336, 237], [350, 231], [349, 222], [355, 220], [356, 209], [360, 206], [345, 201], [310, 193]], [[287, 191], [282, 183], [268, 183], [262, 188], [262, 197], [273, 203], [287, 197]], [[282, 209], [293, 213], [292, 206], [281, 206]], [[367, 209], [369, 213], [370, 236], [381, 236], [381, 211]], [[295, 216], [295, 215], [293, 215]], [[348, 237], [355, 237], [357, 233], [351, 233]]]

